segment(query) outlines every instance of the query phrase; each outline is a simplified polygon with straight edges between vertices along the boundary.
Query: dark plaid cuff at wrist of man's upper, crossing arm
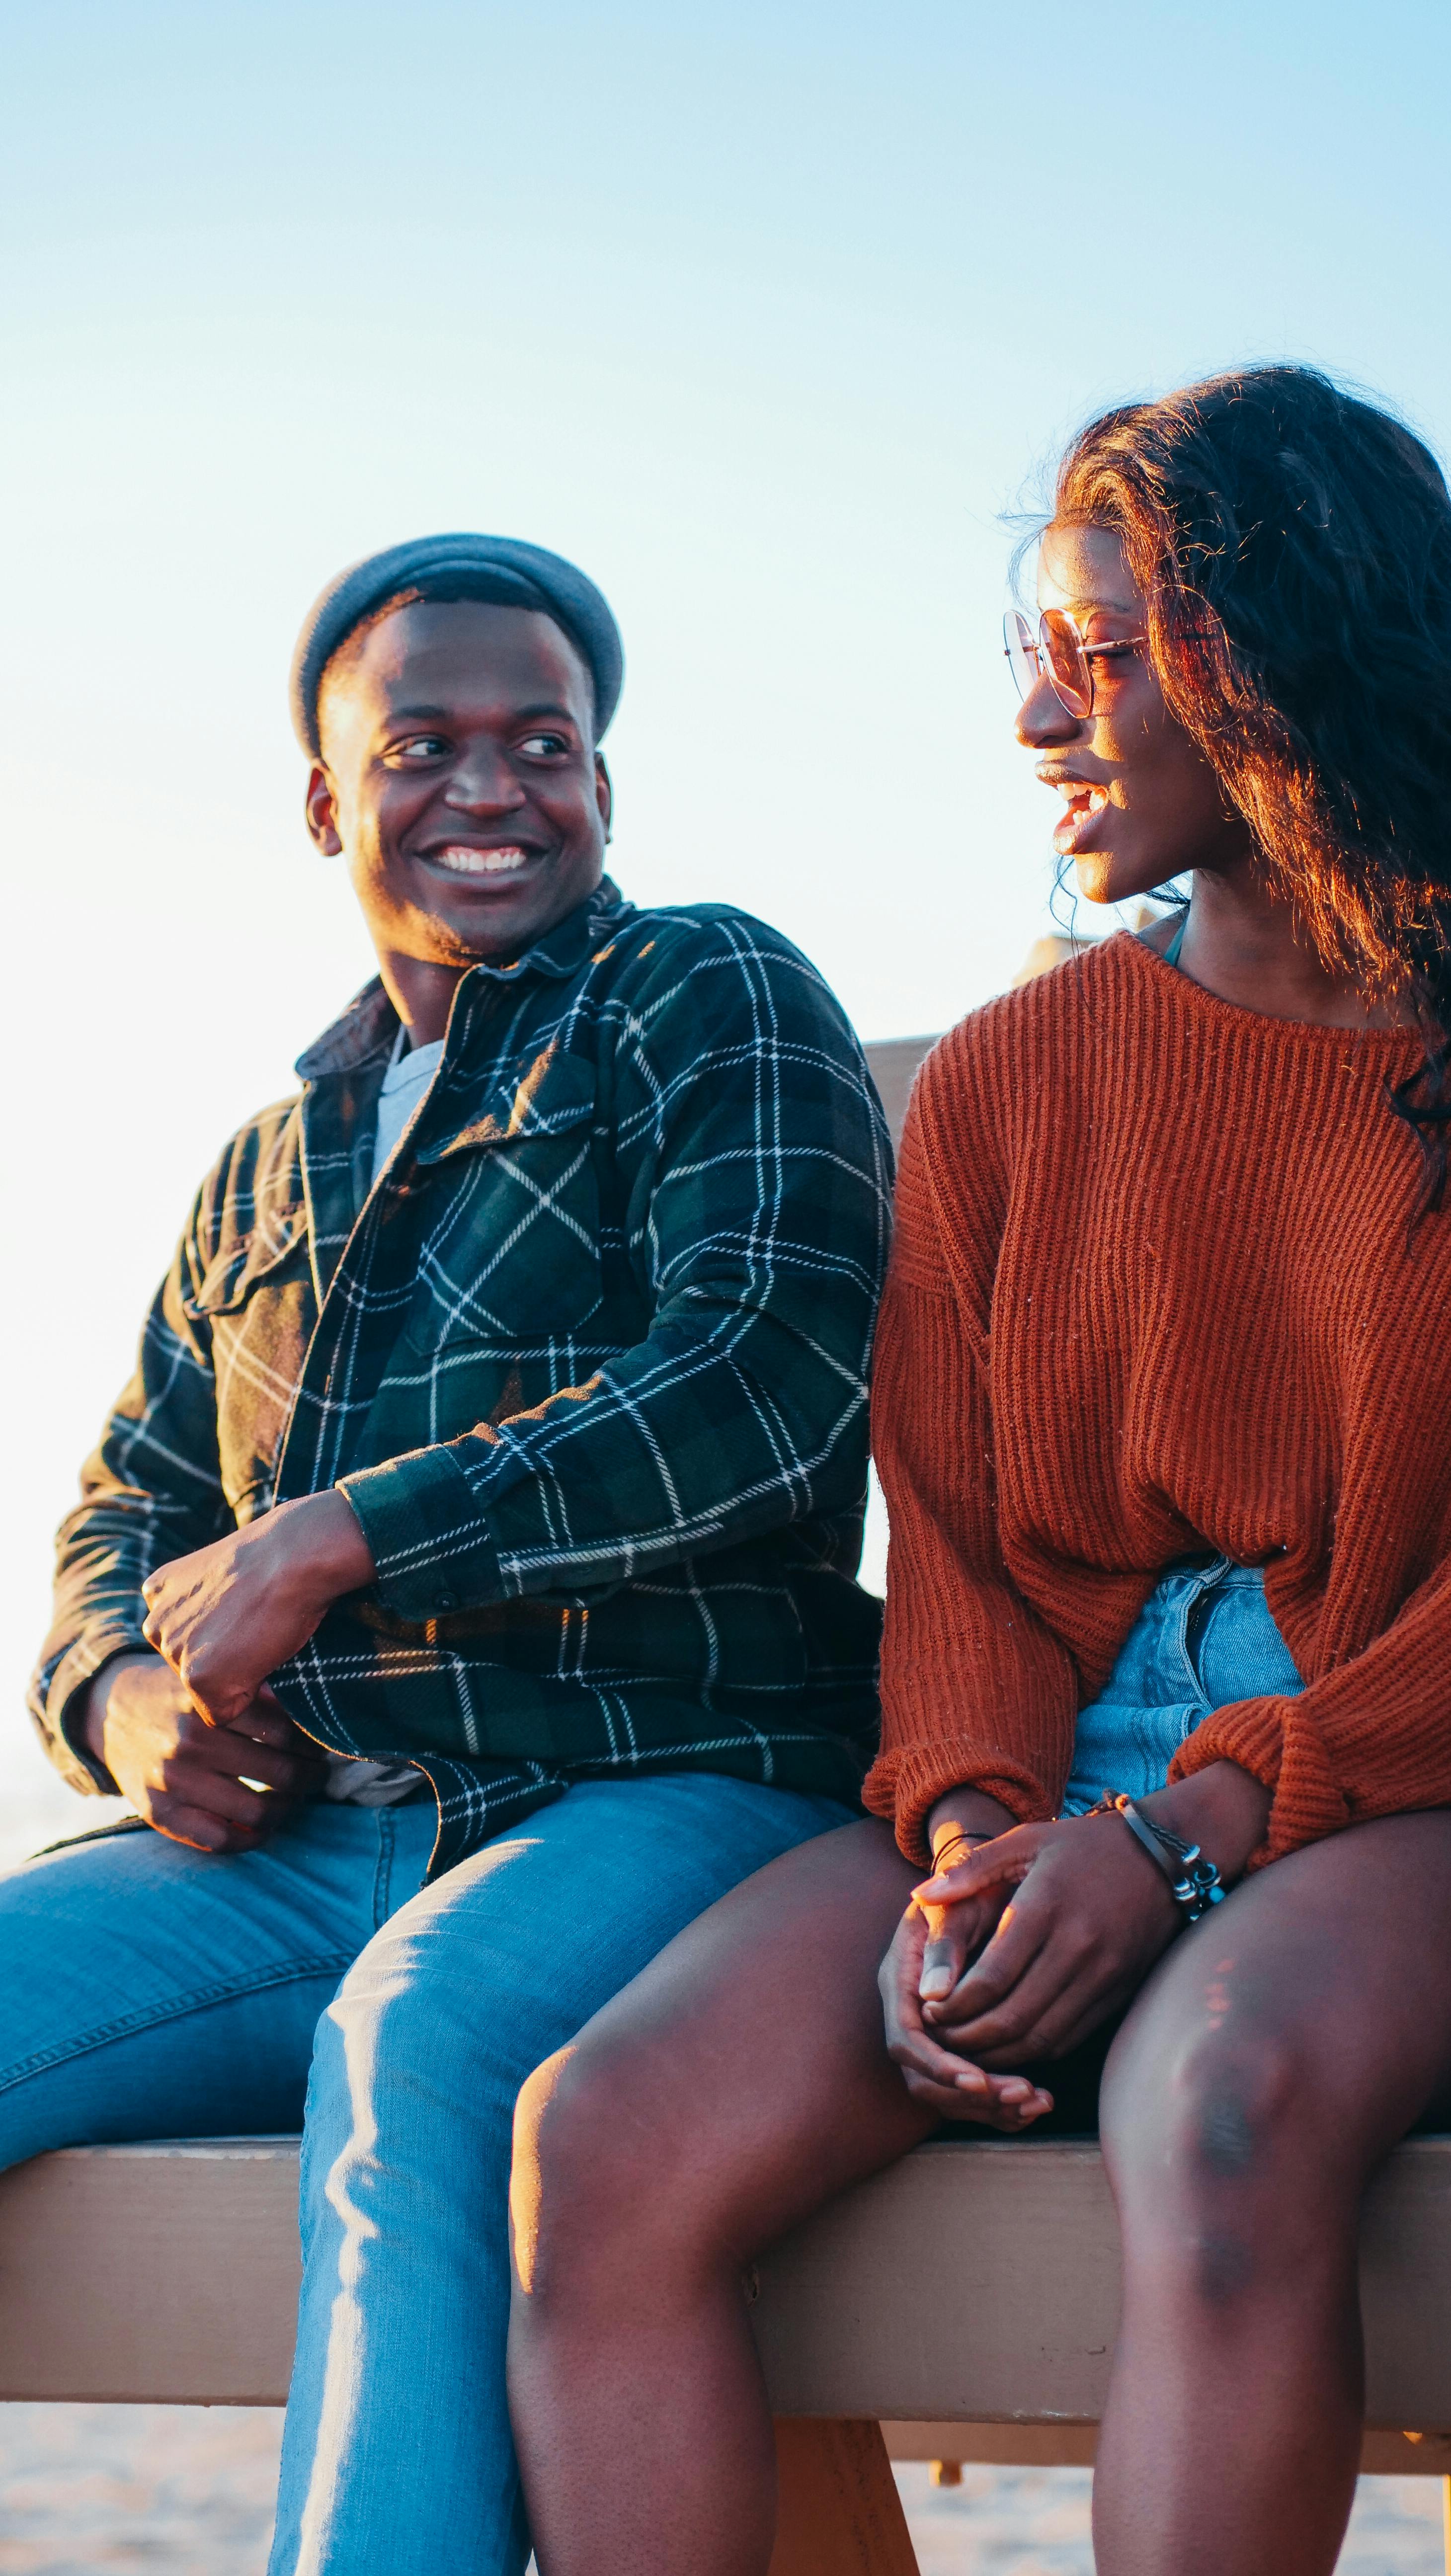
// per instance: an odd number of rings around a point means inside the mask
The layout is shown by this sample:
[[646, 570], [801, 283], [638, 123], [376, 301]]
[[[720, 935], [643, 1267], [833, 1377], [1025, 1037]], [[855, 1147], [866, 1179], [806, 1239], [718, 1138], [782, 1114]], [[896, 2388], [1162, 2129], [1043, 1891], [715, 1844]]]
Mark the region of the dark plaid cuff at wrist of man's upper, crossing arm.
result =
[[497, 1548], [451, 1450], [412, 1450], [340, 1476], [338, 1486], [374, 1553], [384, 1610], [430, 1620], [505, 1597]]

